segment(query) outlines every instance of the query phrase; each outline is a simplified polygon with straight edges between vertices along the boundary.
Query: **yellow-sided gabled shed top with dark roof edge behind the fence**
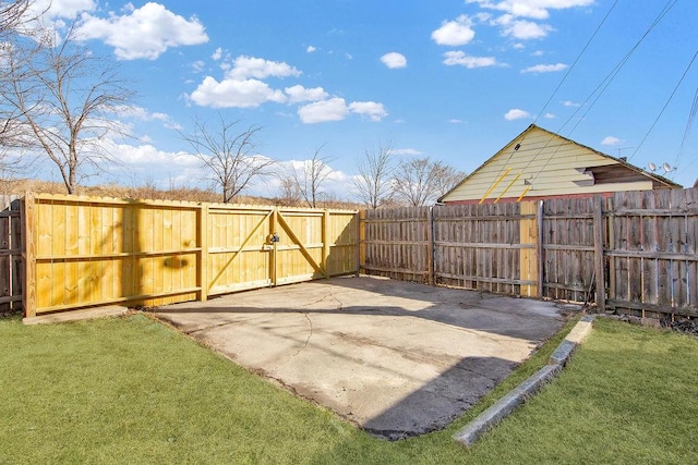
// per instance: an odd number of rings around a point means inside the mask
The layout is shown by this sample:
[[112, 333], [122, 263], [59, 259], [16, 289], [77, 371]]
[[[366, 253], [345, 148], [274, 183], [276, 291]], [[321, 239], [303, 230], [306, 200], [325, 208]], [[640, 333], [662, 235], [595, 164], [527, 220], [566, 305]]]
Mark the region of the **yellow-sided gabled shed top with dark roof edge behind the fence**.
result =
[[531, 124], [438, 201], [477, 204], [589, 197], [681, 185]]

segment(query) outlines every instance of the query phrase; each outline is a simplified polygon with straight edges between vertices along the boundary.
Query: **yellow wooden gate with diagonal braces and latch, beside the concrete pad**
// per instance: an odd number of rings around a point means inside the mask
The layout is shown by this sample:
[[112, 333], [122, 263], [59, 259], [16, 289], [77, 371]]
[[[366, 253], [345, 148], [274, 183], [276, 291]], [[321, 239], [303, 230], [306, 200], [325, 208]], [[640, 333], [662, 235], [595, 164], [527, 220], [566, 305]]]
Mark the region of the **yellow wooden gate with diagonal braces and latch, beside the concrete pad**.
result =
[[208, 295], [357, 271], [356, 212], [208, 206]]

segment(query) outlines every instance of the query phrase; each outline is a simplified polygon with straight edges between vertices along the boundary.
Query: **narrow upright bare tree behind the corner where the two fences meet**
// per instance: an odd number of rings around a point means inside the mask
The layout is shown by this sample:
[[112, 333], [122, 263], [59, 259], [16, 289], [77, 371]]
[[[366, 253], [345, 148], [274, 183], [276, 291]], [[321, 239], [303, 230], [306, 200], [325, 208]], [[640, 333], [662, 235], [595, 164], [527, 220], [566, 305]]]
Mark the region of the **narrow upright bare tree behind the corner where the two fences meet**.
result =
[[359, 175], [353, 179], [357, 188], [356, 197], [369, 208], [378, 208], [393, 196], [390, 174], [393, 168], [393, 144], [378, 144], [375, 149], [368, 149], [364, 159], [359, 163]]

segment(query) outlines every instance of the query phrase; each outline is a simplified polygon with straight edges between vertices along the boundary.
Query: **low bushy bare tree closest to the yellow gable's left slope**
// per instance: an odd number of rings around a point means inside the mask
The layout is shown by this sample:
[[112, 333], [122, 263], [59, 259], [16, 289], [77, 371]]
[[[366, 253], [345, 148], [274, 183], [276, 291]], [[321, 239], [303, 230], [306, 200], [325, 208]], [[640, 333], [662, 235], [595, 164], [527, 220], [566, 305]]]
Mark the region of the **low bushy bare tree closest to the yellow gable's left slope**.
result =
[[455, 168], [429, 157], [402, 161], [395, 171], [395, 195], [412, 207], [436, 201], [462, 174]]

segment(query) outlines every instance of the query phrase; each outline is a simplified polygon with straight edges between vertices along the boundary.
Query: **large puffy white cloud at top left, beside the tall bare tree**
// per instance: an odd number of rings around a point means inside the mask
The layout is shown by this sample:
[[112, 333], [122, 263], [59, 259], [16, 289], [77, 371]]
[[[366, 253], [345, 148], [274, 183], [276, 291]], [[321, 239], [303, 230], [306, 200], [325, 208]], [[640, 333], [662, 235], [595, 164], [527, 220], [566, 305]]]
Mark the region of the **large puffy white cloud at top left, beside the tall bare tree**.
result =
[[122, 16], [110, 13], [108, 19], [83, 13], [76, 33], [81, 38], [104, 40], [115, 48], [120, 60], [155, 60], [170, 47], [208, 41], [204, 26], [196, 17], [186, 20], [155, 2], [145, 3]]

